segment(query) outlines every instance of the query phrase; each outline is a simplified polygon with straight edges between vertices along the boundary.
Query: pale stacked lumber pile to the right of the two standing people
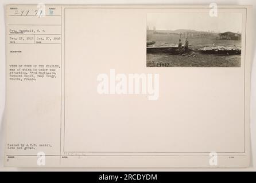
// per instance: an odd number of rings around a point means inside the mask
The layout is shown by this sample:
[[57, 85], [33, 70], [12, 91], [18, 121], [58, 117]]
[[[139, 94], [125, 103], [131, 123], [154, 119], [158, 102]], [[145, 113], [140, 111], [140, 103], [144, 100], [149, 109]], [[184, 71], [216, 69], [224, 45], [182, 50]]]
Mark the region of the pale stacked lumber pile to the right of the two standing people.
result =
[[241, 47], [234, 45], [204, 46], [198, 49], [203, 54], [239, 55]]

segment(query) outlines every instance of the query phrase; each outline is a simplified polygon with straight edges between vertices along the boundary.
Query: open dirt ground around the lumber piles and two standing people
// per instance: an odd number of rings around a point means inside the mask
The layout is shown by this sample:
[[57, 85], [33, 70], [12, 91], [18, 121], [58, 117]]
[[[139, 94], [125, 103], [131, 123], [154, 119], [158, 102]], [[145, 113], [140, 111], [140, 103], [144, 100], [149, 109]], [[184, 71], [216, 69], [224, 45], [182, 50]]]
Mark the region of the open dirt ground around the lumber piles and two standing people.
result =
[[[178, 43], [179, 35], [173, 34], [152, 34], [147, 37], [150, 41], [156, 41], [156, 45], [161, 43]], [[148, 67], [166, 66], [166, 67], [240, 67], [241, 55], [214, 55], [201, 54], [196, 51], [197, 48], [209, 45], [235, 45], [241, 46], [241, 41], [221, 40], [213, 37], [188, 37], [190, 48], [195, 50], [189, 54], [195, 54], [195, 57], [188, 55], [170, 55], [147, 53]], [[185, 38], [181, 38], [185, 42]]]

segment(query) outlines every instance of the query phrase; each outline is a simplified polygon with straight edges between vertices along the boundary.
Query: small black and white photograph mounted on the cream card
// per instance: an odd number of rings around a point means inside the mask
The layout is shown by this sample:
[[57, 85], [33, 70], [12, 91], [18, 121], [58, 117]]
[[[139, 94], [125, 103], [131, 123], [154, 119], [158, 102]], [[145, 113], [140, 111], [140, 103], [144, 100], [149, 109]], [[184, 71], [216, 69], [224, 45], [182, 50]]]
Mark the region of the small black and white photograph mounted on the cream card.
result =
[[148, 13], [146, 29], [147, 67], [241, 67], [241, 13]]

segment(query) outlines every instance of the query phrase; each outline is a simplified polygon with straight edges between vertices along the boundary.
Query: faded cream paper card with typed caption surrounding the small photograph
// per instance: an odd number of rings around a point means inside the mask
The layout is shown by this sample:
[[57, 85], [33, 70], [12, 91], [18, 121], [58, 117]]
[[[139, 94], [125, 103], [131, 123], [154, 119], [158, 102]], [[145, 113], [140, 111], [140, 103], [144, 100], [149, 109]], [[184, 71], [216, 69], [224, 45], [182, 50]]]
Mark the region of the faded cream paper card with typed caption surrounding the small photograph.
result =
[[[198, 53], [189, 31], [193, 52], [150, 55], [167, 60], [156, 61], [161, 67], [148, 66], [148, 16], [209, 16], [209, 7], [41, 6], [6, 6], [6, 166], [249, 166], [250, 6], [218, 8], [241, 18], [239, 55]], [[210, 41], [219, 34], [197, 32]], [[209, 57], [239, 64], [200, 67]], [[172, 65], [176, 58], [199, 65]], [[141, 76], [138, 93], [136, 85], [129, 92], [129, 74]], [[100, 93], [103, 76], [108, 88]], [[148, 82], [143, 92], [150, 76], [159, 87], [149, 93]], [[117, 77], [126, 78], [121, 94]]]

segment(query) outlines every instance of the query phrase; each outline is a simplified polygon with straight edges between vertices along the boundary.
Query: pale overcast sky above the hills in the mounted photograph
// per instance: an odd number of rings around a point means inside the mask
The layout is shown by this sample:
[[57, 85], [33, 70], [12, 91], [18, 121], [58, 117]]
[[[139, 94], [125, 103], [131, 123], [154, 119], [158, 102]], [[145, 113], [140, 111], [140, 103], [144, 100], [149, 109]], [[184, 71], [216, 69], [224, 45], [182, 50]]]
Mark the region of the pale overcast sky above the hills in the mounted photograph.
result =
[[197, 31], [232, 31], [241, 33], [241, 13], [218, 13], [210, 17], [208, 13], [148, 13], [147, 23], [153, 30], [193, 29]]

